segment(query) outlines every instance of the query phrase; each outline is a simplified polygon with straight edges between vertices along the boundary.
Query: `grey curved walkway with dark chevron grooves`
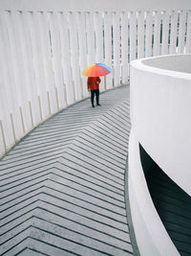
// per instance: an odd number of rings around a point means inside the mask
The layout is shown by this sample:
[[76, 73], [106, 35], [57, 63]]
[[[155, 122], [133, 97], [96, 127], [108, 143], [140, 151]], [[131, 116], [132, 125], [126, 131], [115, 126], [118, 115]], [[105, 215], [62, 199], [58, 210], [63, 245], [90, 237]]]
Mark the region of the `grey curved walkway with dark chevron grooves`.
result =
[[129, 86], [70, 106], [0, 161], [1, 255], [132, 255]]

